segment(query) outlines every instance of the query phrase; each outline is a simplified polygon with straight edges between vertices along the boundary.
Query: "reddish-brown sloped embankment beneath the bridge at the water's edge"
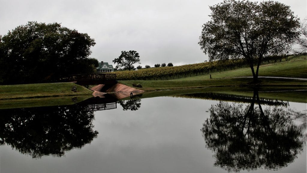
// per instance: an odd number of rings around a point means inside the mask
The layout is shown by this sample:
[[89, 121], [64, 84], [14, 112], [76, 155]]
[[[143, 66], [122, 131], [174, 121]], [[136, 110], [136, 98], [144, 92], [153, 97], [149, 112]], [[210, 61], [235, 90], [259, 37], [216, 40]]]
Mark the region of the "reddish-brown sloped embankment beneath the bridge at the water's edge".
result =
[[117, 99], [123, 99], [130, 96], [130, 93], [133, 93], [133, 95], [137, 95], [139, 93], [145, 92], [143, 90], [138, 90], [135, 88], [132, 88], [130, 86], [126, 86], [123, 84], [115, 84], [111, 86], [110, 88], [104, 89], [103, 84], [94, 86], [91, 88], [91, 90], [94, 91], [93, 96], [94, 97], [104, 97], [105, 94], [111, 94], [115, 96]]

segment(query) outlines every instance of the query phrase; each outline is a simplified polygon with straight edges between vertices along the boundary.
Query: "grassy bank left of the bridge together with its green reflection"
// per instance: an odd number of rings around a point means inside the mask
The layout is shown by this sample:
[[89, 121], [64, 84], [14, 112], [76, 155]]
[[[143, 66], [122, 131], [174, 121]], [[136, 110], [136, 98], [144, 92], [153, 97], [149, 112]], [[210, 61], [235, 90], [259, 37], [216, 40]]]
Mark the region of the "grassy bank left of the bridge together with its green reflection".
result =
[[70, 105], [90, 97], [91, 90], [69, 82], [0, 85], [0, 109]]

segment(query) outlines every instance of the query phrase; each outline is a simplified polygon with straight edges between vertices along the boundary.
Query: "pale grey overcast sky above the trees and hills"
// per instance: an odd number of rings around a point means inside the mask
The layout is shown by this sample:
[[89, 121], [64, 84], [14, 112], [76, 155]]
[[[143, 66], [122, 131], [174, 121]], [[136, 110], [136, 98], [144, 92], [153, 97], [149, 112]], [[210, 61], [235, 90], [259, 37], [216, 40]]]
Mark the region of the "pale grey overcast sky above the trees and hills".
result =
[[[111, 64], [135, 50], [141, 65], [208, 60], [198, 45], [209, 6], [222, 0], [1, 0], [0, 35], [28, 21], [58, 22], [95, 39], [90, 57]], [[306, 0], [278, 0], [306, 18]], [[138, 66], [138, 64], [135, 64]]]

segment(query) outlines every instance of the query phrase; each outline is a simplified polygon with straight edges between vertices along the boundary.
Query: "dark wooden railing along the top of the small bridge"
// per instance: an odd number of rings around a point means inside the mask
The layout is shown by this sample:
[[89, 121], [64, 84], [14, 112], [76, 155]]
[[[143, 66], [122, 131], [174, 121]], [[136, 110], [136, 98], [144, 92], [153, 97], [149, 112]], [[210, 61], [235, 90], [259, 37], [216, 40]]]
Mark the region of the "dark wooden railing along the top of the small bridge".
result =
[[68, 82], [84, 80], [116, 80], [116, 74], [93, 73], [93, 74], [72, 74], [67, 77]]

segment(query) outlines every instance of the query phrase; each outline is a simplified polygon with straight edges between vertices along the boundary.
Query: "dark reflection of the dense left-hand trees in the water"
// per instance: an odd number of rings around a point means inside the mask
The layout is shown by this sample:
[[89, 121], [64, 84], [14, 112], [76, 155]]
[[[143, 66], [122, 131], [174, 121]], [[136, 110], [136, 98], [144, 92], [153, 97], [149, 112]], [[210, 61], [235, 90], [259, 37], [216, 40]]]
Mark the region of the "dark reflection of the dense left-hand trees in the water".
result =
[[33, 158], [60, 157], [97, 137], [93, 119], [81, 105], [0, 110], [0, 145]]

